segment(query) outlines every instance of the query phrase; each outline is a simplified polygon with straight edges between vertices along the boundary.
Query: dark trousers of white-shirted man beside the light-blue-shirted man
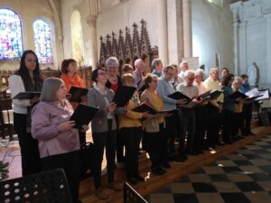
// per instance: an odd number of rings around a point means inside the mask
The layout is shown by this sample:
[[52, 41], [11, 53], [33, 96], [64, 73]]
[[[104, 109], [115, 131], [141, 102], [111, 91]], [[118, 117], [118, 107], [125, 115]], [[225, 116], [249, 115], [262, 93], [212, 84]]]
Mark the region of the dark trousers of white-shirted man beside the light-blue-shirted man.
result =
[[[180, 116], [180, 127], [181, 127], [181, 136], [180, 136], [180, 156], [185, 155], [185, 150], [187, 152], [193, 151], [193, 142], [195, 134], [195, 124], [196, 124], [196, 115], [194, 108], [181, 108], [179, 111]], [[185, 146], [185, 137], [187, 135], [187, 143]]]

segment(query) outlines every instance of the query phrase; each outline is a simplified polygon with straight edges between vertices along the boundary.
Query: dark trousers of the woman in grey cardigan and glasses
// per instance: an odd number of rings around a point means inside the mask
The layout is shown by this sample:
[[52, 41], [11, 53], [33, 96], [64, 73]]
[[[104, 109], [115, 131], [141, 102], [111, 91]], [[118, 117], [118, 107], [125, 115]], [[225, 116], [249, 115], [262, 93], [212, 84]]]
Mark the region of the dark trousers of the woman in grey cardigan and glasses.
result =
[[104, 133], [92, 133], [94, 143], [95, 162], [93, 166], [94, 186], [96, 189], [101, 187], [101, 164], [106, 147], [107, 157], [107, 182], [113, 182], [115, 171], [115, 158], [117, 146], [117, 132], [107, 131]]

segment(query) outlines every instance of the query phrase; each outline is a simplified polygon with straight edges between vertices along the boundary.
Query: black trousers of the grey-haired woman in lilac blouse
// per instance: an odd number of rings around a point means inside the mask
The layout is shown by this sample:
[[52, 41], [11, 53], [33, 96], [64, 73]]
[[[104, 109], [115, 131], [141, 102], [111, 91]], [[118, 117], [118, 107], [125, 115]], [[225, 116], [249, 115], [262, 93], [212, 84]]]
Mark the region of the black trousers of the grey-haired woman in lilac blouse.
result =
[[79, 151], [61, 153], [48, 156], [41, 159], [42, 169], [50, 171], [54, 169], [63, 169], [65, 171], [70, 194], [73, 203], [78, 203], [79, 200]]

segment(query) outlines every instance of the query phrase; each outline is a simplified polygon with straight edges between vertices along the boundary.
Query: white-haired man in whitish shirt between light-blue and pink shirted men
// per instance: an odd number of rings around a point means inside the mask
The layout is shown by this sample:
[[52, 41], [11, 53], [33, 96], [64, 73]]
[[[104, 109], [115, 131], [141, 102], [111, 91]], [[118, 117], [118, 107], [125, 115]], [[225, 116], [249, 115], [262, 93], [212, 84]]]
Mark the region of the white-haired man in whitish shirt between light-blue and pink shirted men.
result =
[[[195, 125], [196, 125], [196, 115], [195, 115], [195, 106], [199, 102], [196, 97], [199, 95], [199, 90], [197, 87], [193, 86], [195, 73], [192, 70], [186, 70], [184, 73], [184, 82], [179, 84], [176, 87], [176, 91], [181, 92], [183, 95], [190, 97], [192, 100], [181, 106], [179, 111], [180, 116], [180, 157], [182, 161], [187, 159], [186, 154], [196, 155], [196, 152], [193, 150], [193, 140], [195, 134]], [[187, 143], [185, 144], [185, 137], [187, 134]]]

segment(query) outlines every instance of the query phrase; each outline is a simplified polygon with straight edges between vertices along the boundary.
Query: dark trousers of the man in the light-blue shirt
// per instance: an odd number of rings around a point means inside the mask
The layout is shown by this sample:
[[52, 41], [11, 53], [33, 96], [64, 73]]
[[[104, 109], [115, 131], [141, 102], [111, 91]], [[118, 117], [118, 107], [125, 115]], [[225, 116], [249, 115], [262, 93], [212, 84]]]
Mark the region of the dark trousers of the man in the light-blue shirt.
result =
[[178, 126], [178, 112], [175, 111], [173, 115], [165, 117], [165, 135], [167, 140], [167, 152], [169, 155], [175, 154], [174, 140], [178, 136], [177, 126]]

